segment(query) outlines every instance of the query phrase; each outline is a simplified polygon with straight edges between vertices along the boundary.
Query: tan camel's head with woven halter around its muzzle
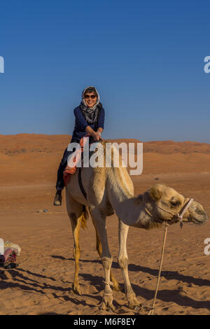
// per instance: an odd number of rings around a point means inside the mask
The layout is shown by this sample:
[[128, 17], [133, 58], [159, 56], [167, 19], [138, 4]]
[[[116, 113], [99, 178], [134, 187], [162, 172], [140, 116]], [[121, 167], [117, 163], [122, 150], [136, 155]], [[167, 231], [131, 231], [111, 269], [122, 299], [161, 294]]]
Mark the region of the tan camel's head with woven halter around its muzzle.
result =
[[[144, 193], [144, 204], [148, 212], [153, 215], [157, 223], [167, 222], [168, 224], [177, 223], [179, 218], [177, 214], [188, 202], [188, 197], [183, 197], [168, 186], [156, 184]], [[183, 214], [183, 222], [201, 225], [208, 220], [207, 212], [199, 202], [193, 201]]]

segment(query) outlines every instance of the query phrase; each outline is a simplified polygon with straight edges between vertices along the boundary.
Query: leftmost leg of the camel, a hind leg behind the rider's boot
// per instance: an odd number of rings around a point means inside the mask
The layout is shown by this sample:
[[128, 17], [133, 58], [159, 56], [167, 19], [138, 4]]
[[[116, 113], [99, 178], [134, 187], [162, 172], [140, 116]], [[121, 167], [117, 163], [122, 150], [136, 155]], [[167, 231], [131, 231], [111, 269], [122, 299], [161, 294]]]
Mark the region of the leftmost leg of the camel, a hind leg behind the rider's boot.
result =
[[71, 220], [71, 228], [73, 232], [73, 258], [75, 260], [75, 271], [74, 271], [74, 279], [72, 290], [75, 293], [81, 294], [80, 285], [78, 283], [78, 261], [80, 259], [80, 245], [79, 245], [79, 233], [80, 233], [80, 225], [83, 222], [83, 205], [76, 202], [69, 195], [66, 190], [66, 208], [68, 211], [69, 218]]

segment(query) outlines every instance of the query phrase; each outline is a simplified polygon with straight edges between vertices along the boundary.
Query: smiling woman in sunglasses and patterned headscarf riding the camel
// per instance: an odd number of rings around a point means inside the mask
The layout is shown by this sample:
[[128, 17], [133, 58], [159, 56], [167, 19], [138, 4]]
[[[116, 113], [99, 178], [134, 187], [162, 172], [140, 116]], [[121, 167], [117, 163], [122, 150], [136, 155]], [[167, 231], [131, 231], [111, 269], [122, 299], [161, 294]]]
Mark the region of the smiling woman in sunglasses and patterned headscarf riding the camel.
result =
[[[71, 137], [71, 143], [79, 143], [85, 134], [90, 134], [90, 139], [99, 141], [104, 130], [104, 109], [99, 102], [99, 93], [93, 86], [85, 88], [82, 94], [80, 106], [73, 110], [75, 126]], [[57, 171], [57, 183], [54, 205], [62, 204], [62, 189], [64, 188], [63, 172], [67, 165], [67, 159], [71, 151], [64, 151], [63, 158]]]

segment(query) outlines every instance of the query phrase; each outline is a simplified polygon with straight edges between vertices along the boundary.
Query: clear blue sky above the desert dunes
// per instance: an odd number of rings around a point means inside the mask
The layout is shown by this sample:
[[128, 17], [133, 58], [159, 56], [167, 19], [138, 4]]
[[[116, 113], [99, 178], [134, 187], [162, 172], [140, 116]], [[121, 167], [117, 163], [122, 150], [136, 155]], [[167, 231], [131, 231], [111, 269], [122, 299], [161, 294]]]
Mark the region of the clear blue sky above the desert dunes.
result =
[[210, 143], [208, 1], [2, 1], [0, 134], [71, 134], [87, 85], [104, 137]]

